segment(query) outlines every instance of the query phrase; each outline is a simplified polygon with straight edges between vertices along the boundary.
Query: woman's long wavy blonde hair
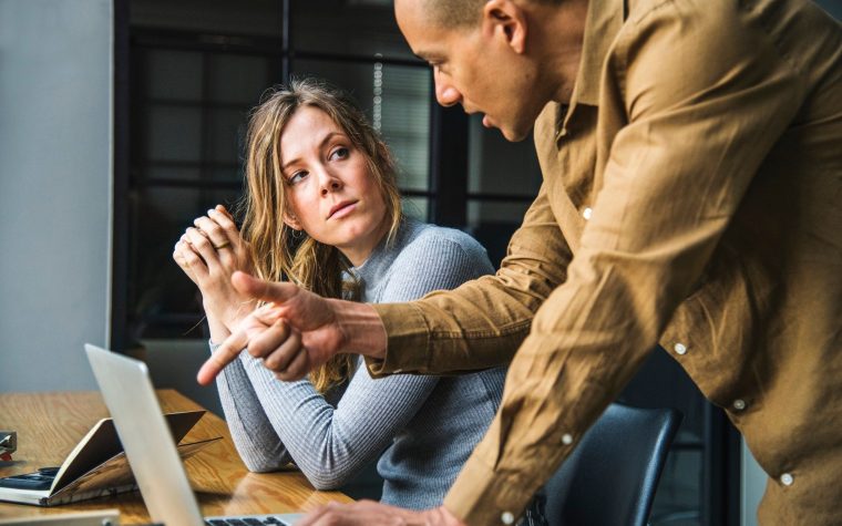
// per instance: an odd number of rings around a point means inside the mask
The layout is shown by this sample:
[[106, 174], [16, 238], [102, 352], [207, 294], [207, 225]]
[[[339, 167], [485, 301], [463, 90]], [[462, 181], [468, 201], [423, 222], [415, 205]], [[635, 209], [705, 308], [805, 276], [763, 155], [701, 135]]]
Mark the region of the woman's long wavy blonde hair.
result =
[[[284, 223], [289, 213], [283, 176], [280, 137], [289, 120], [302, 106], [327, 113], [364, 155], [386, 203], [393, 241], [402, 218], [394, 162], [383, 140], [363, 113], [340, 90], [314, 79], [292, 80], [269, 90], [251, 112], [246, 137], [246, 195], [243, 238], [248, 243], [255, 274], [266, 280], [289, 280], [328, 298], [358, 299], [357, 283], [343, 280], [350, 262], [336, 247], [294, 230]], [[343, 293], [345, 292], [345, 293]], [[337, 354], [310, 372], [316, 390], [325, 392], [348, 379], [352, 354]]]

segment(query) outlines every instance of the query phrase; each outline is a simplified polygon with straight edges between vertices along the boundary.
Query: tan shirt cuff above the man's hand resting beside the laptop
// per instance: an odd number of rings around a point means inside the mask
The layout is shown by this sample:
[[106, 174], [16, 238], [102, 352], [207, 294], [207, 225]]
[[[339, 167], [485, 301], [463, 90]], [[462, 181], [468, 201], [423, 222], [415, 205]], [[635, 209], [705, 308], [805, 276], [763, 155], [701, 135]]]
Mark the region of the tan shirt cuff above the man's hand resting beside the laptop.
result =
[[533, 497], [534, 481], [494, 472], [474, 452], [444, 497], [444, 507], [468, 525], [511, 525]]

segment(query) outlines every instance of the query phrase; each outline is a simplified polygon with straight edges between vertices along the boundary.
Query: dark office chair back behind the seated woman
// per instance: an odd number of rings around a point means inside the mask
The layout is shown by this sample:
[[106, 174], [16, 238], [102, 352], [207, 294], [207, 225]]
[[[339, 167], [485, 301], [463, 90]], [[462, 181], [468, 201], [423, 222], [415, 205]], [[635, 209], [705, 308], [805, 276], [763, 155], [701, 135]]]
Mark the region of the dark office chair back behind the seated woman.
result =
[[681, 417], [609, 405], [544, 486], [550, 525], [646, 525]]

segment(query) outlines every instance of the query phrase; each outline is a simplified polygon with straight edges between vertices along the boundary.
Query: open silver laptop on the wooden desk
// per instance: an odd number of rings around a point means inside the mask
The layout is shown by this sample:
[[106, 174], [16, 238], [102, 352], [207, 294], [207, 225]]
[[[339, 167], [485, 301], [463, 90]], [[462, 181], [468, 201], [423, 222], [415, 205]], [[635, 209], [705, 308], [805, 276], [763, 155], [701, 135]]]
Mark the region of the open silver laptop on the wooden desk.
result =
[[88, 343], [85, 352], [154, 523], [291, 525], [301, 517], [302, 514], [278, 514], [202, 518], [146, 364]]

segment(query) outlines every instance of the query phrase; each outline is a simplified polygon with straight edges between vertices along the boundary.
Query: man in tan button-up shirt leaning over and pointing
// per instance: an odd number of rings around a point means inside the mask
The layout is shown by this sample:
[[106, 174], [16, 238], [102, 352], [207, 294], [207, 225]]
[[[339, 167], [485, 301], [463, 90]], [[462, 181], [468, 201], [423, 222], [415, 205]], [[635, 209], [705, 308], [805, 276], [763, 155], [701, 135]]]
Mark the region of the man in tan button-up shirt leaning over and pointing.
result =
[[280, 379], [340, 351], [374, 375], [512, 360], [442, 507], [329, 506], [304, 524], [512, 524], [656, 341], [769, 474], [761, 523], [838, 522], [840, 25], [802, 0], [397, 0], [396, 14], [441, 104], [511, 141], [534, 124], [545, 181], [497, 275], [452, 292], [366, 306], [234, 276], [274, 305], [201, 382], [246, 345]]

